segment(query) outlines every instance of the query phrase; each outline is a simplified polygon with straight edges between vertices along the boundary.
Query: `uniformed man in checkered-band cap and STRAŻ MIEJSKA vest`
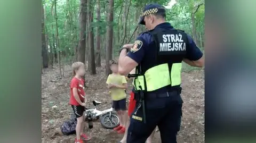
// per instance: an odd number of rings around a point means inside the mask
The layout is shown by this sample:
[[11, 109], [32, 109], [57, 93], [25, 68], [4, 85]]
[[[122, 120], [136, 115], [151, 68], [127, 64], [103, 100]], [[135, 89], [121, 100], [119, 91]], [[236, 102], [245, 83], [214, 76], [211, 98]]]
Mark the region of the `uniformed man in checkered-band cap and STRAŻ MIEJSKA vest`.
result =
[[139, 93], [128, 129], [129, 143], [145, 142], [156, 126], [162, 142], [177, 142], [183, 103], [181, 62], [201, 68], [204, 65], [203, 53], [193, 39], [174, 29], [165, 16], [163, 6], [148, 4], [139, 21], [148, 31], [139, 35], [134, 44], [124, 45], [119, 55], [120, 74], [136, 68], [133, 85]]

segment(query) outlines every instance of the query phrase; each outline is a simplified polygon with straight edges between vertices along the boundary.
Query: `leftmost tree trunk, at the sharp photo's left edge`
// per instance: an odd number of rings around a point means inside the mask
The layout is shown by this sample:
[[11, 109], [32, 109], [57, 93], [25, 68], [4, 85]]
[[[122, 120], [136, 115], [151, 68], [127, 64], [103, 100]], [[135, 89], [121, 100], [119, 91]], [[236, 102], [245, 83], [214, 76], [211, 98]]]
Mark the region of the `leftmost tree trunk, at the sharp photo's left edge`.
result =
[[43, 58], [43, 68], [48, 68], [48, 55], [47, 55], [47, 45], [45, 37], [45, 24], [44, 24], [44, 5], [42, 5], [42, 58]]

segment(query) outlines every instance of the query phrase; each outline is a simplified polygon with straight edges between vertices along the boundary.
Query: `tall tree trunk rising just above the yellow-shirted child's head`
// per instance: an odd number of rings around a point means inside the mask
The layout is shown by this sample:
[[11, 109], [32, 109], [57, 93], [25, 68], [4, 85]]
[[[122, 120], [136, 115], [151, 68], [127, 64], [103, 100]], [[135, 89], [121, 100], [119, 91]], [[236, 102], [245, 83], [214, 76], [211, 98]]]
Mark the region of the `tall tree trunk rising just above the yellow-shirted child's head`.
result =
[[108, 26], [106, 33], [106, 75], [110, 74], [109, 61], [112, 59], [112, 46], [113, 46], [113, 19], [114, 19], [114, 0], [109, 0], [108, 6]]

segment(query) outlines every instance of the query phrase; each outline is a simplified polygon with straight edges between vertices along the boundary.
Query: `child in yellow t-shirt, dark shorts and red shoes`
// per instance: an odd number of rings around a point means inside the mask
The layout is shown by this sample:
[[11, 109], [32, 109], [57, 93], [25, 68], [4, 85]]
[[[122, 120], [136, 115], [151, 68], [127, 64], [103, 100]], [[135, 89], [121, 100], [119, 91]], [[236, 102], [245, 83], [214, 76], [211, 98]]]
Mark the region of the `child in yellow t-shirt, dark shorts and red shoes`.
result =
[[120, 119], [120, 125], [114, 128], [118, 133], [125, 132], [126, 125], [126, 93], [127, 81], [123, 75], [118, 74], [118, 63], [110, 61], [110, 70], [112, 74], [108, 75], [107, 84], [110, 89], [110, 95], [113, 100], [114, 110]]

